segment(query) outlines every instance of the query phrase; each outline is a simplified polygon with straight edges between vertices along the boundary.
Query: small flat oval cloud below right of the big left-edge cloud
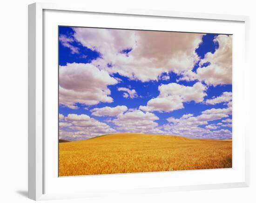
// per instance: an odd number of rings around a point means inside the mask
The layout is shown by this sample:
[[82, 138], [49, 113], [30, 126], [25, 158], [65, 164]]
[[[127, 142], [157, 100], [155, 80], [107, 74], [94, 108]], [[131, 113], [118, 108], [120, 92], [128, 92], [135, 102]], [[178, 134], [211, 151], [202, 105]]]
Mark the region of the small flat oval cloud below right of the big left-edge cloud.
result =
[[124, 113], [127, 111], [128, 108], [126, 106], [116, 106], [116, 107], [103, 107], [103, 108], [93, 108], [91, 110], [92, 115], [95, 116], [117, 116], [119, 114]]

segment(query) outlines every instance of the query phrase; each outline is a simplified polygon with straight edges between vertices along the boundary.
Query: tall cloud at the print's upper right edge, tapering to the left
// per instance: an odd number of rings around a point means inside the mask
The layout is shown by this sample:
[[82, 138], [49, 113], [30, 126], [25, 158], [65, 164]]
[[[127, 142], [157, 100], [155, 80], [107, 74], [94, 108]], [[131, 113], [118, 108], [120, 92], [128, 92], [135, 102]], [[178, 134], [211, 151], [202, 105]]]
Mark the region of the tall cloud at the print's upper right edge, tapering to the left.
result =
[[[214, 53], [208, 52], [200, 60], [200, 67], [196, 72], [183, 72], [179, 81], [199, 80], [213, 86], [232, 84], [232, 36], [218, 35], [214, 42], [219, 44], [219, 48]], [[205, 63], [209, 65], [204, 67]]]

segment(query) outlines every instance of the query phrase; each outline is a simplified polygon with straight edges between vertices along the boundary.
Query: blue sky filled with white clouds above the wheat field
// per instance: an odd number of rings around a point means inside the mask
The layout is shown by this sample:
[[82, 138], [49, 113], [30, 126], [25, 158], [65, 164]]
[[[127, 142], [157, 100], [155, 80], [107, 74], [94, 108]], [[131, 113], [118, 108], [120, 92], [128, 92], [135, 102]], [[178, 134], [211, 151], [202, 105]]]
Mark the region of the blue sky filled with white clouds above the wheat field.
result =
[[60, 26], [60, 138], [120, 132], [232, 138], [231, 41]]

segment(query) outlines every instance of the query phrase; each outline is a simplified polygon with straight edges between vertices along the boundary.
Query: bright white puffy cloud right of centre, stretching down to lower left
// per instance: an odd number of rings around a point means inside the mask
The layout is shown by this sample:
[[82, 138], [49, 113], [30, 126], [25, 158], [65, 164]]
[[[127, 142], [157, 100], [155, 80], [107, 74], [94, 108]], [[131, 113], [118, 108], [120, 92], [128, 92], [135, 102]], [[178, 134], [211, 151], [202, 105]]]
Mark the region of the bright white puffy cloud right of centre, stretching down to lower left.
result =
[[171, 112], [184, 108], [183, 103], [195, 101], [202, 102], [206, 86], [196, 82], [192, 87], [177, 84], [175, 82], [163, 84], [158, 87], [159, 96], [148, 101], [147, 106], [140, 106], [142, 111]]

